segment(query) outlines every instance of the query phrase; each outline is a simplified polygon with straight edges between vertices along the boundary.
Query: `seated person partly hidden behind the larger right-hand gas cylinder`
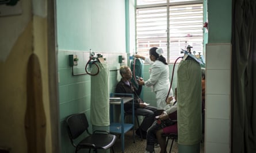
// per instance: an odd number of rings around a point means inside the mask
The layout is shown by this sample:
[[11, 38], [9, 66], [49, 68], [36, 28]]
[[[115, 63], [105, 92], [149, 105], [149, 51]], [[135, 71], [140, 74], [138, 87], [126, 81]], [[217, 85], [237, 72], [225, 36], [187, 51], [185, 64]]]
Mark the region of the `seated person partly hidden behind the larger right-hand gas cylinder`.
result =
[[175, 102], [170, 103], [173, 97], [168, 97], [165, 111], [156, 116], [154, 123], [147, 131], [146, 152], [154, 152], [154, 144], [159, 143], [161, 153], [165, 153], [166, 138], [162, 134], [178, 134], [177, 128], [177, 88], [175, 88]]

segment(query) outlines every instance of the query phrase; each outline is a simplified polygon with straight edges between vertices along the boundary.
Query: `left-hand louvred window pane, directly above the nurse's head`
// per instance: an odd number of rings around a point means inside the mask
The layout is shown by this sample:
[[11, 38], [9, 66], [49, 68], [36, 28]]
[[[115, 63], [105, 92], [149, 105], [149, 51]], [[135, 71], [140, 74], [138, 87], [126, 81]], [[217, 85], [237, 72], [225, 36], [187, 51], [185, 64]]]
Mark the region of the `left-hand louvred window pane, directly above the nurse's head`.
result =
[[137, 52], [148, 56], [148, 50], [156, 46], [163, 48], [166, 53], [166, 7], [137, 9], [136, 15]]

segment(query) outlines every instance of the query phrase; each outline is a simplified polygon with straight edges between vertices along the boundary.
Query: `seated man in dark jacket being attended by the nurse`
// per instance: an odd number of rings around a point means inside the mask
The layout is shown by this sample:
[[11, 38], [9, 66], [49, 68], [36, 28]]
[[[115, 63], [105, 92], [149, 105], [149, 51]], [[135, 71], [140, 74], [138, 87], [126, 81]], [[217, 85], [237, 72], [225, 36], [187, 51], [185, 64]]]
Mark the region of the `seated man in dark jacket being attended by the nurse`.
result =
[[[139, 89], [137, 89], [132, 83], [132, 72], [128, 66], [120, 67], [121, 80], [116, 85], [116, 93], [132, 93], [134, 96], [134, 108], [135, 114], [144, 116], [142, 124], [140, 124], [140, 130], [142, 131], [143, 139], [146, 139], [147, 130], [154, 122], [154, 118], [158, 109], [156, 107], [152, 107], [149, 105], [145, 105], [142, 99], [138, 95], [142, 91], [142, 85], [139, 85]], [[125, 95], [119, 95], [125, 96]], [[132, 112], [132, 103], [124, 104], [125, 112]], [[136, 131], [136, 134], [140, 136], [139, 129]]]

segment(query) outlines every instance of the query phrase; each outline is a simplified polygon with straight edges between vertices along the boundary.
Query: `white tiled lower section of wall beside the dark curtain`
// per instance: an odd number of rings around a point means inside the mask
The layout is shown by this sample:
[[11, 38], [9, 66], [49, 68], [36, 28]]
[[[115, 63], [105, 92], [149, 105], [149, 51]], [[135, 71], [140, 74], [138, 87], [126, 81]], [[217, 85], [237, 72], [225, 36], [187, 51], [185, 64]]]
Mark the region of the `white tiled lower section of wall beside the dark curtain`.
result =
[[231, 44], [207, 44], [205, 152], [230, 152]]

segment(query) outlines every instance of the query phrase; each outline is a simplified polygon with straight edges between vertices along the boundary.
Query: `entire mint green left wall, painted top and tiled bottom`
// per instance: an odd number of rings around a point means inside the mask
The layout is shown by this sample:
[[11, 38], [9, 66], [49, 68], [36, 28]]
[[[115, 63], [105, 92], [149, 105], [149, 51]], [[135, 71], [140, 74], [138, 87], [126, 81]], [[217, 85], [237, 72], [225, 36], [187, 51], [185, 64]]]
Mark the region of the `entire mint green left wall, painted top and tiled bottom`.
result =
[[[74, 66], [75, 74], [85, 73], [89, 49], [106, 57], [110, 70], [109, 92], [114, 92], [116, 83], [120, 80], [117, 70], [120, 67], [118, 56], [127, 57], [125, 52], [125, 1], [57, 0], [56, 29], [60, 140], [62, 153], [69, 153], [74, 152], [74, 147], [68, 139], [64, 119], [72, 113], [84, 112], [90, 122], [91, 76], [88, 74], [72, 76], [68, 55], [78, 56], [78, 66]], [[125, 63], [127, 62], [126, 58]], [[92, 127], [90, 127], [91, 130]]]

